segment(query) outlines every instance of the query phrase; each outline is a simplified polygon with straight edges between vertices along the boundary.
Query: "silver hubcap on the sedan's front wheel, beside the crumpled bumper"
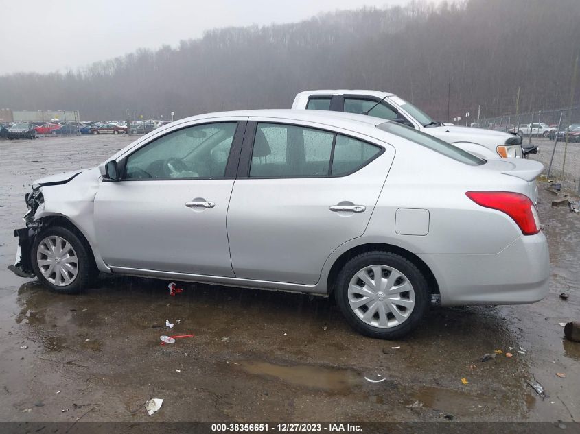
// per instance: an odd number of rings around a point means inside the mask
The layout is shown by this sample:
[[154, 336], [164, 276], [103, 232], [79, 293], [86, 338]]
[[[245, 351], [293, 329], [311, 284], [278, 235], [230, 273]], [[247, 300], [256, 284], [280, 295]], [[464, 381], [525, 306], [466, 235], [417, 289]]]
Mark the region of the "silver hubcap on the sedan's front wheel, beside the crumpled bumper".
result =
[[36, 263], [44, 278], [58, 287], [70, 285], [78, 274], [78, 257], [73, 246], [56, 235], [40, 241]]

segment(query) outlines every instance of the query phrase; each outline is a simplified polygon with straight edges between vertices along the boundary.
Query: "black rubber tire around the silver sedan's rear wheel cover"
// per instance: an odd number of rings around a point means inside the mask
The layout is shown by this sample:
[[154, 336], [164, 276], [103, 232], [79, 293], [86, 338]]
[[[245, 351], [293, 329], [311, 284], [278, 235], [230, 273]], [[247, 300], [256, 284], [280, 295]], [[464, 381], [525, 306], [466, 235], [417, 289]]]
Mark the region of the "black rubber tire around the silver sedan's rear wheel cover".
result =
[[[397, 269], [404, 274], [413, 285], [415, 291], [415, 306], [409, 317], [396, 326], [388, 328], [380, 328], [378, 326], [371, 326], [363, 322], [354, 313], [348, 300], [348, 287], [351, 278], [364, 267], [369, 265], [386, 265]], [[362, 253], [346, 263], [343, 269], [338, 274], [336, 279], [336, 289], [334, 290], [334, 298], [338, 308], [343, 313], [349, 325], [358, 333], [362, 335], [374, 337], [378, 339], [399, 339], [404, 337], [411, 330], [417, 327], [421, 319], [424, 317], [428, 306], [430, 305], [430, 290], [427, 285], [425, 276], [419, 271], [419, 268], [408, 259], [392, 252], [366, 252]]]

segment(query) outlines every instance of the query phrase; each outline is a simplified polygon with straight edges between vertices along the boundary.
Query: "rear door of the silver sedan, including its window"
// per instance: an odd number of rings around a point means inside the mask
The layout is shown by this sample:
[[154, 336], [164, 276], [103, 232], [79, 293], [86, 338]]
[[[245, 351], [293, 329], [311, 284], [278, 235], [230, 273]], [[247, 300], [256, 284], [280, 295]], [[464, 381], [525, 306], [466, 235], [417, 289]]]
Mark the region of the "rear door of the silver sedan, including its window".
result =
[[393, 148], [315, 123], [250, 119], [227, 219], [235, 276], [314, 285], [329, 254], [364, 233]]

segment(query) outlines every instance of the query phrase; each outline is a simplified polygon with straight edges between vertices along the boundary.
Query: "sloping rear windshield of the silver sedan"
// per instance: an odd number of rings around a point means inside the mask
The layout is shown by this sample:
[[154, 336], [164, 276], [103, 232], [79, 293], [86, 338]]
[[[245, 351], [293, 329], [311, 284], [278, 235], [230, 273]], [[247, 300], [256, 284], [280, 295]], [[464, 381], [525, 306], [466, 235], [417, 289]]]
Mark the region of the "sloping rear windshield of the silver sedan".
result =
[[428, 147], [435, 152], [439, 152], [439, 154], [443, 154], [459, 162], [464, 162], [467, 165], [479, 166], [485, 164], [485, 160], [482, 160], [473, 154], [469, 154], [469, 152], [459, 149], [459, 147], [456, 147], [451, 143], [444, 142], [439, 140], [439, 138], [417, 131], [414, 128], [406, 127], [400, 123], [385, 122], [377, 126], [380, 130], [390, 132], [391, 134], [395, 134], [395, 136], [406, 138], [407, 140], [418, 143], [421, 146]]

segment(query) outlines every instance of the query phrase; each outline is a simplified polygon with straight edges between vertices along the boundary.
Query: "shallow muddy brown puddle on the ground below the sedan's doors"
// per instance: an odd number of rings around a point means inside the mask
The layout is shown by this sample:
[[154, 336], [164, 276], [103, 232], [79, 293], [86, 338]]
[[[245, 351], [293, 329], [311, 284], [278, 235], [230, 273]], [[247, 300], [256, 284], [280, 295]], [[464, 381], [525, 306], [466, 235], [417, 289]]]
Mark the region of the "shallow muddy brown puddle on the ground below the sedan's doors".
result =
[[355, 385], [360, 385], [362, 376], [353, 370], [344, 370], [333, 367], [294, 365], [274, 365], [264, 361], [237, 361], [240, 367], [248, 374], [278, 378], [293, 386], [308, 387], [346, 393]]

